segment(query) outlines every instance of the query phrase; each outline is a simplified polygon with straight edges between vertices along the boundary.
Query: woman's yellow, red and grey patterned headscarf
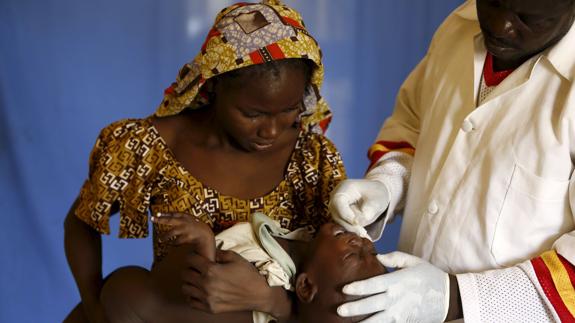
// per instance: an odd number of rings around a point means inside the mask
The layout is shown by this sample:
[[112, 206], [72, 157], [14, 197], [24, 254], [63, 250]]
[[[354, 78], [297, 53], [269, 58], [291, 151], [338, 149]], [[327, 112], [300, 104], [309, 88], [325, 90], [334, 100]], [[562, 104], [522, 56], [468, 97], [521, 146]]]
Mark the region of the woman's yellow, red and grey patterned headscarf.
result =
[[279, 1], [234, 4], [217, 15], [201, 52], [180, 69], [176, 82], [166, 89], [156, 116], [205, 106], [208, 98], [201, 91], [202, 85], [222, 73], [273, 60], [306, 58], [315, 68], [303, 100], [301, 125], [304, 130], [325, 132], [331, 111], [319, 91], [324, 73], [321, 56], [319, 45], [295, 10]]

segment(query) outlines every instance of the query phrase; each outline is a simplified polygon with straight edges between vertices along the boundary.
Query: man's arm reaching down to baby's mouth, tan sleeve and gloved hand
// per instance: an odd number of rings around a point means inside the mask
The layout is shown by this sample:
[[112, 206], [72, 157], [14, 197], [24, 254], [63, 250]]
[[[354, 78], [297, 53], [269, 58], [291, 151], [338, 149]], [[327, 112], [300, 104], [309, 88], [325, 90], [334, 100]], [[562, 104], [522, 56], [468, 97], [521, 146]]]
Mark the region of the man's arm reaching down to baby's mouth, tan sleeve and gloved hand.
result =
[[401, 86], [393, 114], [369, 149], [371, 163], [365, 179], [343, 181], [331, 196], [330, 211], [335, 221], [362, 236], [365, 230], [353, 230], [343, 222], [363, 227], [373, 224], [366, 228], [372, 240], [381, 237], [385, 223], [401, 210], [405, 201], [419, 136], [423, 109], [420, 96], [428, 55]]

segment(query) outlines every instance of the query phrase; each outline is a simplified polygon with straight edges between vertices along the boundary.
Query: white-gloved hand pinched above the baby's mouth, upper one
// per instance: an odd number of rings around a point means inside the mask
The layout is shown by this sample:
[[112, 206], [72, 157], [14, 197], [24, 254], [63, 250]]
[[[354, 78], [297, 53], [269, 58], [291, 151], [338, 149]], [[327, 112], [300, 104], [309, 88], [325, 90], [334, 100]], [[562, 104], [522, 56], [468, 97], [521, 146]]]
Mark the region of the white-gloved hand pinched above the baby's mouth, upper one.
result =
[[[334, 189], [329, 210], [340, 224], [348, 223], [352, 228], [365, 227], [385, 212], [389, 200], [389, 189], [381, 180], [348, 179]], [[344, 227], [349, 229], [346, 225]]]

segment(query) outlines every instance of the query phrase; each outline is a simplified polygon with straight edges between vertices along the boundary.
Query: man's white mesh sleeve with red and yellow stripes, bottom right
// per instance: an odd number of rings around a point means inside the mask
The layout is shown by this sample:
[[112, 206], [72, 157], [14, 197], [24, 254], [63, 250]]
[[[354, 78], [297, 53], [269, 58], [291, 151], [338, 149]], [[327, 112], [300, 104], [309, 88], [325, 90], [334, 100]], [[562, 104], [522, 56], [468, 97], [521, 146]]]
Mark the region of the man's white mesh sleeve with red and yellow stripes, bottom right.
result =
[[573, 264], [555, 250], [517, 266], [457, 275], [464, 318], [470, 322], [573, 322], [574, 278]]

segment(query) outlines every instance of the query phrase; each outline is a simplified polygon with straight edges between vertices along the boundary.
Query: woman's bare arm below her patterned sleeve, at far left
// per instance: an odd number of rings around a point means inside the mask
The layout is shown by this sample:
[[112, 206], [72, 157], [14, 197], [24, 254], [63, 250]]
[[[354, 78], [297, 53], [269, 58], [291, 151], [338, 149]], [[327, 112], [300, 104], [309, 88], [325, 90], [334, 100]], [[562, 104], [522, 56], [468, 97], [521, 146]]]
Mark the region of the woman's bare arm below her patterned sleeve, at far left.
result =
[[64, 222], [66, 258], [80, 291], [86, 316], [91, 322], [106, 322], [100, 303], [103, 285], [101, 236], [75, 216], [77, 203], [76, 200]]

